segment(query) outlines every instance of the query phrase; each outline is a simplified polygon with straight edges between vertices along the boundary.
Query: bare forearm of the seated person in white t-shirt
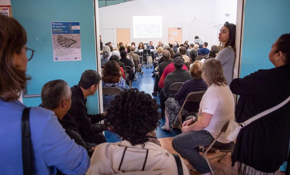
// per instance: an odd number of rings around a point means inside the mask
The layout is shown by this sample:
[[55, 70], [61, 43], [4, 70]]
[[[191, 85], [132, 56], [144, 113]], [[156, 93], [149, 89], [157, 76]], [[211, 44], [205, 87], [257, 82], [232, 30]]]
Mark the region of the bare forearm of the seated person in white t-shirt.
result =
[[182, 127], [182, 132], [185, 133], [188, 131], [201, 131], [201, 130], [203, 130], [204, 128], [206, 128], [210, 124], [212, 116], [213, 115], [210, 113], [201, 113], [201, 119], [198, 120], [196, 123], [193, 123], [189, 126], [186, 125], [186, 126]]

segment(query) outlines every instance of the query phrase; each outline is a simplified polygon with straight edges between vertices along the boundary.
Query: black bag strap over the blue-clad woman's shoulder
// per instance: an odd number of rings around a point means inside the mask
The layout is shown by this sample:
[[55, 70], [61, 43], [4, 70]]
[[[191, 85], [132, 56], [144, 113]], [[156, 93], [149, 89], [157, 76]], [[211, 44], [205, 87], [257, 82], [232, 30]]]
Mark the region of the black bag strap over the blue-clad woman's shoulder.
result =
[[29, 112], [30, 108], [24, 108], [21, 119], [22, 164], [24, 175], [31, 175], [33, 170], [33, 149], [29, 126]]

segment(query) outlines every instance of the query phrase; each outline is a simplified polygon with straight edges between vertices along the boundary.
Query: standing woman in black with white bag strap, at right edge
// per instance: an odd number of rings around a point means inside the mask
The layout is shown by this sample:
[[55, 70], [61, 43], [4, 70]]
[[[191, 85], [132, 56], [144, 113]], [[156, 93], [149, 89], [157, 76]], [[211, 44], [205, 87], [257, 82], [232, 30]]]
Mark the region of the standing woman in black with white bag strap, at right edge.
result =
[[[290, 95], [290, 34], [280, 36], [272, 45], [269, 60], [275, 66], [236, 78], [230, 89], [240, 95], [236, 121], [249, 118], [276, 106]], [[245, 126], [237, 137], [232, 162], [239, 174], [280, 174], [287, 161], [290, 138], [290, 103]]]

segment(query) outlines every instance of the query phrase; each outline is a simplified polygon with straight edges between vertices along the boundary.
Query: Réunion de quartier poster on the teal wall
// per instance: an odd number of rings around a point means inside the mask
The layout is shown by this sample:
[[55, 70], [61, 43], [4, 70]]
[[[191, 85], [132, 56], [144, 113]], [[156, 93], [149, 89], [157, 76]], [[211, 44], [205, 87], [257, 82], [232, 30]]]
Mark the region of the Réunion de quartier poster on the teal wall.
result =
[[53, 61], [81, 61], [79, 22], [51, 22]]

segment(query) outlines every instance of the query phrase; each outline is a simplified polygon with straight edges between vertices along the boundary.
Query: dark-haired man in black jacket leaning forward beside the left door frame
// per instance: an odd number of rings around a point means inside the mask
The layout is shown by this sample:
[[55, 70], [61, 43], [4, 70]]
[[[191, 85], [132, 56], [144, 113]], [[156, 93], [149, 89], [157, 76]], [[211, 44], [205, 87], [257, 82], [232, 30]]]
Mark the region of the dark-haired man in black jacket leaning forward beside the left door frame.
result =
[[103, 120], [101, 114], [88, 114], [87, 97], [94, 95], [100, 84], [101, 76], [94, 70], [86, 70], [82, 74], [79, 84], [71, 87], [72, 105], [64, 116], [77, 126], [82, 138], [89, 143], [104, 143], [106, 139], [103, 131], [108, 130], [105, 124], [94, 124]]

